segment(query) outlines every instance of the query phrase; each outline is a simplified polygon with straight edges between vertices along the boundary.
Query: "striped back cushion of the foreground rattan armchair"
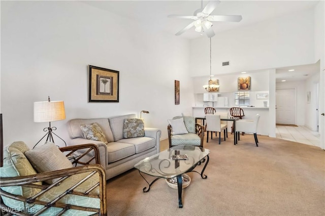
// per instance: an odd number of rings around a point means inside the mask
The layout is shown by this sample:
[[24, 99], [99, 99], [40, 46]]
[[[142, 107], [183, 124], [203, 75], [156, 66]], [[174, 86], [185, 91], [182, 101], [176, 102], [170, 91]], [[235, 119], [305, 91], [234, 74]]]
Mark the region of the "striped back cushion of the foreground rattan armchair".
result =
[[[1, 177], [18, 177], [37, 174], [36, 170], [31, 166], [28, 159], [24, 155], [29, 148], [24, 142], [14, 142], [4, 148], [4, 166], [0, 168]], [[41, 182], [34, 183], [42, 185]], [[20, 186], [2, 187], [2, 190], [15, 195], [23, 195], [31, 197], [41, 191], [37, 188], [27, 188]], [[34, 206], [34, 204], [24, 203], [2, 196], [4, 203], [9, 207], [26, 208]]]

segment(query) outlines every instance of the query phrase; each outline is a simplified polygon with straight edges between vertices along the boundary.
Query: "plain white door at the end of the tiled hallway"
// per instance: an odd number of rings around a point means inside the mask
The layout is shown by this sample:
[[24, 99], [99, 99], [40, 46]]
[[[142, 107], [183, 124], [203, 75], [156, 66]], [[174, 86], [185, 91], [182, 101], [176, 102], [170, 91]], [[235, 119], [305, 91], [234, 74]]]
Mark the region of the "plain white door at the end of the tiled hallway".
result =
[[296, 90], [276, 90], [276, 123], [296, 124]]

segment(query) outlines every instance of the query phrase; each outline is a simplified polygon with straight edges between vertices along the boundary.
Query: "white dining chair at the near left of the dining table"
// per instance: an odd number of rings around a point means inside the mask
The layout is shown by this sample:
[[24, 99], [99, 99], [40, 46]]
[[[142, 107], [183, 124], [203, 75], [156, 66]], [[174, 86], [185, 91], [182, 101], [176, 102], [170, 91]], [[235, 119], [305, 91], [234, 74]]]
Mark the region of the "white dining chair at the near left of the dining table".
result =
[[225, 129], [227, 127], [226, 124], [222, 124], [220, 120], [220, 115], [205, 115], [207, 122], [207, 143], [209, 142], [209, 132], [211, 132], [211, 140], [213, 132], [219, 132], [219, 145], [221, 143], [221, 131], [223, 131], [223, 139], [225, 141]]

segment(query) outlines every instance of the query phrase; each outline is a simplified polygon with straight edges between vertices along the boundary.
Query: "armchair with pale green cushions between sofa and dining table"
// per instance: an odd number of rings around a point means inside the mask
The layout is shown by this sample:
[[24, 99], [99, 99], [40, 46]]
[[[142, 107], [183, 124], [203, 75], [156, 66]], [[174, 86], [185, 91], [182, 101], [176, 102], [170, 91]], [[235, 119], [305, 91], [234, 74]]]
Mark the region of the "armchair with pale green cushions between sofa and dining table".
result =
[[195, 122], [192, 116], [175, 116], [168, 120], [169, 148], [178, 145], [203, 147], [204, 126]]

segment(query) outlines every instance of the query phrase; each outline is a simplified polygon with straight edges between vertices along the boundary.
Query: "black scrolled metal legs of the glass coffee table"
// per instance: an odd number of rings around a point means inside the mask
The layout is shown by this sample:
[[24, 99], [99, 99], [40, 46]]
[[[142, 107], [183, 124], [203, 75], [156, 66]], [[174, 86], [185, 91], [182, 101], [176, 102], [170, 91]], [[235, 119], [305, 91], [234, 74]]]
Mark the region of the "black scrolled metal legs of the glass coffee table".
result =
[[[203, 167], [201, 173], [198, 172], [198, 171], [196, 171], [196, 170], [193, 170], [195, 167], [197, 167], [197, 165], [201, 165], [201, 164], [204, 163], [204, 162], [205, 162], [205, 164], [204, 164], [204, 167]], [[206, 158], [203, 158], [202, 160], [200, 160], [197, 164], [193, 165], [193, 167], [192, 167], [190, 170], [188, 170], [187, 172], [197, 172], [198, 174], [201, 175], [201, 178], [202, 178], [202, 179], [207, 179], [208, 177], [207, 177], [206, 175], [204, 175], [203, 172], [204, 172], [205, 168], [207, 167], [208, 163], [209, 163], [209, 155], [207, 155]], [[151, 183], [149, 183], [149, 182], [144, 178], [144, 176], [141, 174], [141, 171], [140, 171], [140, 170], [139, 170], [139, 174], [140, 174], [140, 176], [142, 176], [142, 178], [143, 178], [143, 179], [148, 183], [148, 185], [149, 185], [148, 188], [147, 188], [147, 187], [144, 187], [144, 188], [143, 188], [143, 192], [144, 192], [144, 193], [149, 192], [151, 186], [153, 185], [153, 183], [155, 183], [158, 179], [161, 179], [161, 178], [162, 178], [162, 177], [157, 177], [157, 178], [154, 179]], [[180, 208], [183, 207], [183, 203], [182, 203], [182, 184], [183, 184], [183, 183], [182, 183], [182, 175], [180, 174], [180, 175], [177, 176], [178, 207], [180, 207]]]

